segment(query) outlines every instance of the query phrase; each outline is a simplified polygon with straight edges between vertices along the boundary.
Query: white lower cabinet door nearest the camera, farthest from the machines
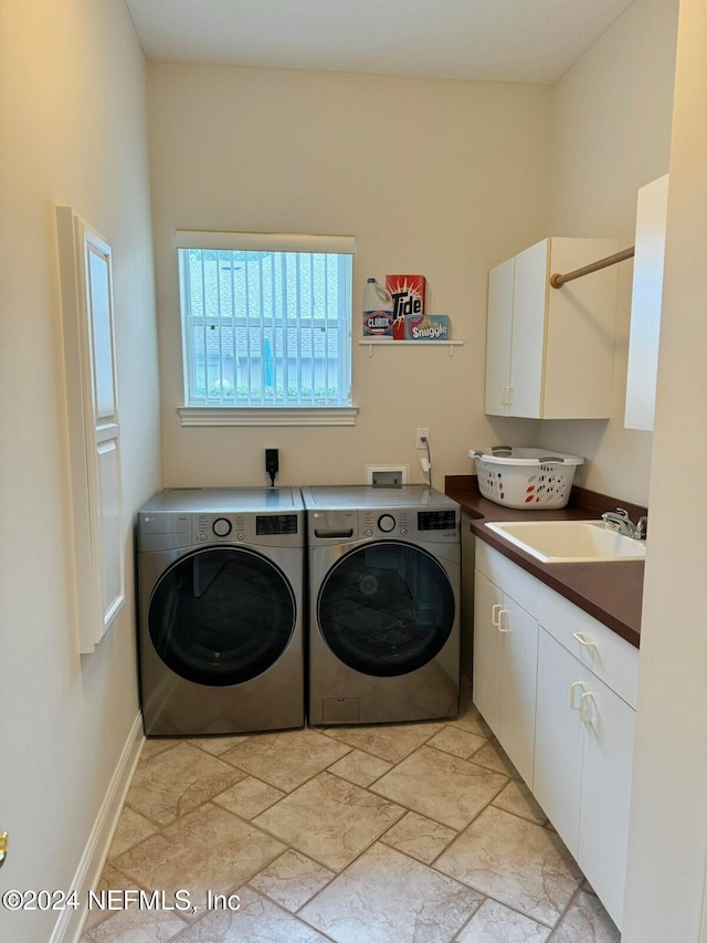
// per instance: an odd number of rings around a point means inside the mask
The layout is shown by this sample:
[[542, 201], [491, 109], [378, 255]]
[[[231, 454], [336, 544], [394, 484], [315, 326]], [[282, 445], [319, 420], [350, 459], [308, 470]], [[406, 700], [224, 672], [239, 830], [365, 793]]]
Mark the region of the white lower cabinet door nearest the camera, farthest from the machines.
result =
[[635, 711], [588, 675], [578, 861], [621, 929]]

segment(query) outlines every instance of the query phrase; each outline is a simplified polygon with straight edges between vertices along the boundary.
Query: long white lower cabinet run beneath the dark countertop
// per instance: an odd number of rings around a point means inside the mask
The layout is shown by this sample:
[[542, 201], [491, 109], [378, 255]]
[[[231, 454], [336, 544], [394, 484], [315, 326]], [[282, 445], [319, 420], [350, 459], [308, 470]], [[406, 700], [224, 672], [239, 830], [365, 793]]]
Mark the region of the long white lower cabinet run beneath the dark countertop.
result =
[[477, 541], [474, 703], [621, 929], [639, 651]]

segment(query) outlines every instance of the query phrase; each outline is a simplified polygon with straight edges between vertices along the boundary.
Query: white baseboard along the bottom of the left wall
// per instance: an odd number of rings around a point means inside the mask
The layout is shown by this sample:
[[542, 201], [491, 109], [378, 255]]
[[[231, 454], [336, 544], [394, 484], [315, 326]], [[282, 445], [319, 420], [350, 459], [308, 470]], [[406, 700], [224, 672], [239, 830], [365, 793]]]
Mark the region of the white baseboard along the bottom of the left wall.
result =
[[106, 796], [98, 809], [98, 815], [91, 829], [88, 841], [86, 842], [84, 853], [81, 856], [78, 868], [70, 888], [70, 891], [75, 892], [76, 900], [82, 902], [81, 908], [78, 910], [66, 908], [66, 910], [61, 912], [49, 943], [80, 943], [88, 913], [86, 910], [88, 891], [94, 890], [103, 873], [110, 842], [118, 825], [120, 811], [130, 787], [144, 742], [143, 715], [138, 714], [123, 747], [120, 759], [110, 779]]

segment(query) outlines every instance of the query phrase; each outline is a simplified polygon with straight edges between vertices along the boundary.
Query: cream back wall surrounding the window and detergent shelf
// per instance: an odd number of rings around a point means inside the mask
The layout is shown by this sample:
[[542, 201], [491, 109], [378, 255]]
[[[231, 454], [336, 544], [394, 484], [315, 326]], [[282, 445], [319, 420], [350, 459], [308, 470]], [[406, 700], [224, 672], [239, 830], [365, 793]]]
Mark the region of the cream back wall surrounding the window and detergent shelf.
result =
[[[166, 484], [266, 484], [266, 447], [281, 484], [362, 482], [367, 462], [422, 481], [426, 426], [443, 486], [469, 448], [535, 440], [483, 412], [486, 281], [547, 234], [548, 87], [151, 64], [149, 88]], [[404, 272], [465, 346], [369, 358], [355, 343], [356, 428], [182, 428], [178, 228], [354, 234], [355, 342], [366, 279]]]

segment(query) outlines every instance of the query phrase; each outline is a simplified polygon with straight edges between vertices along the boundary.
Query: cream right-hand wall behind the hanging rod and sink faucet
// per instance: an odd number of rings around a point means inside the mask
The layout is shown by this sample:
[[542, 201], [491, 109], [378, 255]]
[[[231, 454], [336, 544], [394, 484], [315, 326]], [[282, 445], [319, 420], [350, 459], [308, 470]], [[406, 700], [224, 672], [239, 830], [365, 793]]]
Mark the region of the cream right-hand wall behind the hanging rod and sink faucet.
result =
[[[550, 229], [633, 245], [639, 187], [668, 169], [678, 0], [635, 0], [553, 87]], [[606, 421], [544, 422], [541, 442], [584, 455], [578, 481], [647, 504], [652, 433], [623, 428], [633, 262], [618, 265]]]

